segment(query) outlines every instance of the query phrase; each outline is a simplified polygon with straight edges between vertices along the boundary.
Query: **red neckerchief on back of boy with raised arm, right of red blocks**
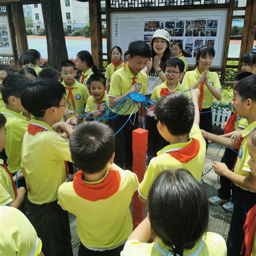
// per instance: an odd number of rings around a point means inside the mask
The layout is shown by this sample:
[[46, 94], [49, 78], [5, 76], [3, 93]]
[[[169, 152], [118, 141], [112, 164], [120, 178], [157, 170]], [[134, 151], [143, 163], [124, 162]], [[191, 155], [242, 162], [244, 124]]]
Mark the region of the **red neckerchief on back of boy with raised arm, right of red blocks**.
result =
[[180, 163], [187, 163], [197, 156], [200, 150], [200, 143], [197, 139], [192, 138], [192, 142], [183, 147], [183, 149], [177, 151], [166, 152], [174, 157], [176, 160], [180, 161]]

